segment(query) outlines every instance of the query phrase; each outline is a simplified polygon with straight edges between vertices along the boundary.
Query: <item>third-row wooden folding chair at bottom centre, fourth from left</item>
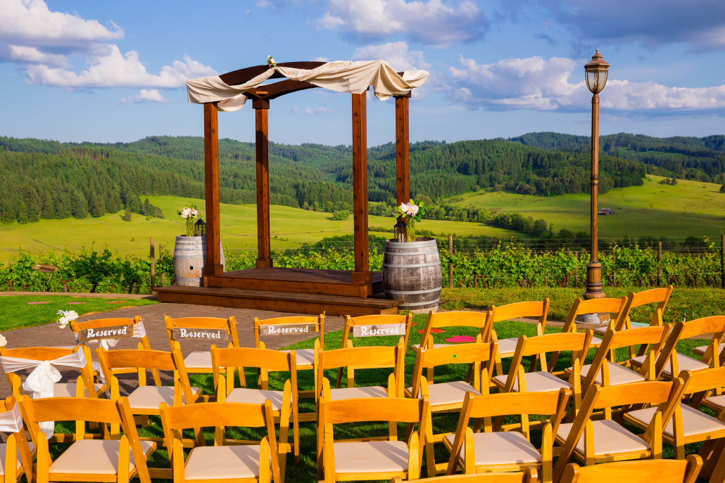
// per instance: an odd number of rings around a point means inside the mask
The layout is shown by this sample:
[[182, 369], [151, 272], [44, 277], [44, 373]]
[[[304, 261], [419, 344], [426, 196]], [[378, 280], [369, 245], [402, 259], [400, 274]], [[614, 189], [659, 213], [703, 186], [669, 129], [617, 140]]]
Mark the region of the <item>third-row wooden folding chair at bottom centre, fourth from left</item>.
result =
[[[320, 398], [318, 429], [318, 471], [325, 482], [388, 479], [418, 479], [423, 457], [428, 400], [407, 398], [365, 398], [328, 401]], [[406, 442], [397, 440], [397, 432], [385, 441], [336, 442], [336, 424], [368, 421], [418, 423]], [[396, 424], [389, 424], [395, 429]]]

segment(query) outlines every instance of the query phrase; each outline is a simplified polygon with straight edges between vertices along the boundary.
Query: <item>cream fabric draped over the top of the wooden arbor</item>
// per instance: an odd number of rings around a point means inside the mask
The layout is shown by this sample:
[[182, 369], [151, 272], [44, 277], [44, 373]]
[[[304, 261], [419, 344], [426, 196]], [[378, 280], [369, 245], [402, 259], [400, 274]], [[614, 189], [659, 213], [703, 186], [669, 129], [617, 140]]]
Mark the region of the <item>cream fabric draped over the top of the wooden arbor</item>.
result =
[[225, 112], [238, 111], [247, 102], [244, 92], [255, 88], [275, 72], [290, 80], [303, 80], [331, 91], [362, 94], [373, 86], [378, 99], [401, 96], [426, 82], [425, 70], [407, 70], [402, 77], [384, 60], [365, 62], [327, 62], [315, 69], [294, 69], [293, 67], [270, 67], [244, 84], [227, 85], [218, 76], [199, 77], [186, 81], [188, 101], [195, 104], [218, 102], [218, 109]]

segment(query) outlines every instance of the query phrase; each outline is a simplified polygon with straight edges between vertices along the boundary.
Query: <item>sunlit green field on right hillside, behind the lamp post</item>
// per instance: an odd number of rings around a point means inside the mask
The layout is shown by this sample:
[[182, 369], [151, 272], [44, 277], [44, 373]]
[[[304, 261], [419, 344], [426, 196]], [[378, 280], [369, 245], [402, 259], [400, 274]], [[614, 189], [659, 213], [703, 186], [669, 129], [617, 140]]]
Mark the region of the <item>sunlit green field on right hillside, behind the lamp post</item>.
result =
[[[707, 235], [719, 238], [725, 230], [725, 193], [720, 185], [677, 180], [662, 185], [662, 177], [647, 175], [642, 186], [610, 190], [599, 196], [600, 208], [616, 214], [599, 217], [600, 238], [647, 235], [684, 238]], [[453, 204], [521, 213], [553, 224], [555, 232], [567, 228], [589, 232], [589, 194], [526, 196], [478, 191], [452, 198]]]

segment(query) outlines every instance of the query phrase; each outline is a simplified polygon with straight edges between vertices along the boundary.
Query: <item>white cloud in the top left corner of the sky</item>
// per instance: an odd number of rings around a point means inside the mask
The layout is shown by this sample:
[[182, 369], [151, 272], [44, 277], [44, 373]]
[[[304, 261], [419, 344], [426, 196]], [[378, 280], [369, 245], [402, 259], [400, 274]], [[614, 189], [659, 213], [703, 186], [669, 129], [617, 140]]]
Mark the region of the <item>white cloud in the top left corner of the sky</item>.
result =
[[123, 30], [113, 22], [107, 28], [78, 14], [51, 12], [43, 0], [0, 0], [0, 9], [0, 41], [11, 45], [58, 51], [123, 38]]

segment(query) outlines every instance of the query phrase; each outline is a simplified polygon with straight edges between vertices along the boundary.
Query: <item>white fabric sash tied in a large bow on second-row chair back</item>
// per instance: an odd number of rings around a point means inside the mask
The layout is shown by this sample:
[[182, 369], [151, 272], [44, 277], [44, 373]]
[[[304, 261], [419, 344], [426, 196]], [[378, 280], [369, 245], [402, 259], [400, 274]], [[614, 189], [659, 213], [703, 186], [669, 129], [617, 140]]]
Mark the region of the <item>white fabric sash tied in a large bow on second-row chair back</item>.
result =
[[[30, 397], [33, 399], [52, 398], [54, 385], [61, 379], [60, 371], [58, 371], [55, 366], [81, 368], [86, 366], [86, 356], [83, 354], [83, 350], [78, 350], [78, 352], [53, 359], [52, 361], [38, 361], [36, 359], [0, 356], [0, 363], [2, 364], [5, 374], [20, 371], [22, 369], [33, 369], [33, 371], [28, 374], [28, 377], [25, 378], [25, 382], [22, 383], [22, 389], [25, 390], [25, 392], [30, 392]], [[46, 434], [46, 437], [50, 438], [53, 435], [55, 422], [44, 421], [40, 424], [40, 427]]]

